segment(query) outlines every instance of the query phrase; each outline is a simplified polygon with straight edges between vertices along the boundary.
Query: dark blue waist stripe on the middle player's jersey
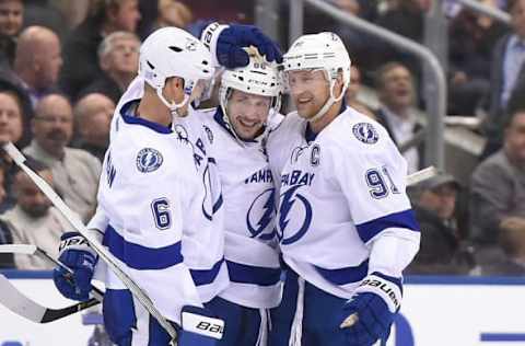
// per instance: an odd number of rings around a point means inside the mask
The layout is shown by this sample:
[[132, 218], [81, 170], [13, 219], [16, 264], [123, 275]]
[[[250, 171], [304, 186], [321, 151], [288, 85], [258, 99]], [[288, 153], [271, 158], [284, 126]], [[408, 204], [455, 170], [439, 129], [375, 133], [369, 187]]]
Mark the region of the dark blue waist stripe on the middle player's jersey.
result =
[[280, 268], [267, 268], [226, 261], [230, 280], [238, 284], [273, 286], [281, 279]]

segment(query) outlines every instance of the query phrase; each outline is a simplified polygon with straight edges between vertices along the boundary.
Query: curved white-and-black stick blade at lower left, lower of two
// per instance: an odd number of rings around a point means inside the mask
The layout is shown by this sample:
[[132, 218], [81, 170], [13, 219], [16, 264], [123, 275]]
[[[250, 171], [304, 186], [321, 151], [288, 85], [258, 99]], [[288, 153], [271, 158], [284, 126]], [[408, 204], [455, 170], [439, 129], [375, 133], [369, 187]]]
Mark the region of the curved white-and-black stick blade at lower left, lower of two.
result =
[[98, 304], [100, 301], [92, 298], [88, 301], [61, 309], [45, 308], [22, 295], [5, 276], [0, 274], [0, 303], [15, 314], [30, 321], [35, 323], [48, 323], [94, 307]]

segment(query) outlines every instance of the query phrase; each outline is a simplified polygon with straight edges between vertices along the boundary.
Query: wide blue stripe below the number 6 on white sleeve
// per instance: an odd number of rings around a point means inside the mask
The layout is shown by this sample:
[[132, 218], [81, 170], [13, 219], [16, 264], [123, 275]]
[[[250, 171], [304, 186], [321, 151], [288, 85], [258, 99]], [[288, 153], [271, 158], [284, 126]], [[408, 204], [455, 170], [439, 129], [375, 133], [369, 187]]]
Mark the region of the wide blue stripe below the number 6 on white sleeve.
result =
[[102, 243], [132, 269], [165, 269], [183, 262], [180, 242], [164, 247], [147, 247], [126, 241], [112, 226], [106, 228]]

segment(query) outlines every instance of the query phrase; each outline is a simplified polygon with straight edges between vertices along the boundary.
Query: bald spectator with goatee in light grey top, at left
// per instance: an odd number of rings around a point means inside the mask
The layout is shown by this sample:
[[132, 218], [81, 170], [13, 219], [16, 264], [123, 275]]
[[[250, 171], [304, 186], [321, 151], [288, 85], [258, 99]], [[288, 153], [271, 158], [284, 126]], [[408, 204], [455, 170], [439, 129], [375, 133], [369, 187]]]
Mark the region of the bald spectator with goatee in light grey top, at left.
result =
[[42, 99], [32, 122], [34, 139], [24, 153], [51, 168], [55, 186], [66, 204], [86, 221], [95, 209], [101, 162], [81, 149], [67, 147], [73, 134], [73, 113], [59, 94]]

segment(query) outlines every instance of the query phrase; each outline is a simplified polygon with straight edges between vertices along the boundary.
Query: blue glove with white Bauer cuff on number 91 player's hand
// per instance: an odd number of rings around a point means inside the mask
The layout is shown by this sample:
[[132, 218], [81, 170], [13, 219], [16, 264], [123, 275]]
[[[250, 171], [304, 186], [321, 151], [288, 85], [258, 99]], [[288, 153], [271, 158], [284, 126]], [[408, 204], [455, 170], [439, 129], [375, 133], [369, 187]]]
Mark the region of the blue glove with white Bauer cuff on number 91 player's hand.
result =
[[338, 319], [346, 334], [347, 346], [371, 346], [386, 341], [390, 325], [401, 303], [399, 278], [372, 273], [355, 289]]

